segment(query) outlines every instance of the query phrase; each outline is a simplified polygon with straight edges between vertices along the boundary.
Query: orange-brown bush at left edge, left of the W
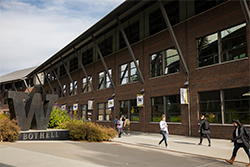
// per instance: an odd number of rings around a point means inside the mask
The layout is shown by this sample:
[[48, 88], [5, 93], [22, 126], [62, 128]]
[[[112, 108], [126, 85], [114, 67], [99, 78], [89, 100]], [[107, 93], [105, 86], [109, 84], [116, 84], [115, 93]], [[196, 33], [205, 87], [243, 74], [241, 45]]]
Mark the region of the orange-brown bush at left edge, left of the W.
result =
[[0, 140], [13, 142], [18, 139], [20, 128], [16, 120], [1, 116], [0, 119]]

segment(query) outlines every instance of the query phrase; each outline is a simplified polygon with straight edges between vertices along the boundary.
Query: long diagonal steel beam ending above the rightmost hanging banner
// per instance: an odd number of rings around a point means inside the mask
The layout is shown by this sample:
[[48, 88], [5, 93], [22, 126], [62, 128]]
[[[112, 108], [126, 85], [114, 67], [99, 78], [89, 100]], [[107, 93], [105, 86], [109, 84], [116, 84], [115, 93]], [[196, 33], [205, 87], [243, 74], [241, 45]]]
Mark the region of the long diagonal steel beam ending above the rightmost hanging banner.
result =
[[176, 39], [175, 33], [174, 33], [174, 31], [173, 31], [173, 28], [172, 28], [172, 26], [171, 26], [171, 24], [170, 24], [170, 21], [169, 21], [169, 19], [168, 19], [167, 12], [166, 12], [166, 10], [165, 10], [163, 4], [162, 4], [162, 1], [161, 1], [161, 0], [158, 0], [158, 3], [159, 3], [159, 7], [160, 7], [160, 9], [161, 9], [161, 13], [162, 13], [162, 15], [163, 15], [163, 18], [164, 18], [164, 20], [165, 20], [165, 22], [166, 22], [166, 24], [167, 24], [167, 27], [168, 27], [170, 36], [171, 36], [171, 38], [172, 38], [172, 40], [173, 40], [173, 42], [174, 42], [175, 48], [177, 49], [177, 52], [178, 52], [178, 54], [179, 54], [179, 56], [180, 56], [180, 58], [181, 58], [182, 66], [183, 66], [183, 68], [184, 68], [184, 70], [185, 70], [186, 75], [188, 76], [188, 75], [189, 75], [189, 71], [188, 71], [188, 68], [187, 68], [185, 59], [184, 59], [184, 57], [183, 57], [183, 55], [182, 55], [182, 52], [181, 52], [180, 46], [179, 46], [179, 44], [178, 44], [178, 41], [177, 41], [177, 39]]

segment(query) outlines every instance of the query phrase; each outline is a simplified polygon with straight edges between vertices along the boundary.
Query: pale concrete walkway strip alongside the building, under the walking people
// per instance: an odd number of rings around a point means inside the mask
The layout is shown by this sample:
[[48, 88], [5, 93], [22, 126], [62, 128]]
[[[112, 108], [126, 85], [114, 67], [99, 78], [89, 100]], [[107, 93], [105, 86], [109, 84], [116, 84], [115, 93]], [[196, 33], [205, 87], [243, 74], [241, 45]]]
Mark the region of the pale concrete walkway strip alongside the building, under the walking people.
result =
[[[164, 142], [162, 142], [160, 148], [158, 147], [158, 142], [161, 138], [161, 134], [131, 132], [131, 135], [122, 135], [121, 138], [115, 138], [113, 141], [155, 149], [166, 149]], [[166, 150], [170, 152], [180, 152], [219, 160], [231, 158], [234, 145], [230, 142], [230, 140], [212, 138], [211, 147], [208, 147], [206, 137], [203, 138], [202, 145], [198, 145], [199, 140], [200, 139], [198, 137], [169, 135], [168, 145], [170, 149]], [[235, 162], [249, 163], [248, 157], [243, 148], [239, 149]]]

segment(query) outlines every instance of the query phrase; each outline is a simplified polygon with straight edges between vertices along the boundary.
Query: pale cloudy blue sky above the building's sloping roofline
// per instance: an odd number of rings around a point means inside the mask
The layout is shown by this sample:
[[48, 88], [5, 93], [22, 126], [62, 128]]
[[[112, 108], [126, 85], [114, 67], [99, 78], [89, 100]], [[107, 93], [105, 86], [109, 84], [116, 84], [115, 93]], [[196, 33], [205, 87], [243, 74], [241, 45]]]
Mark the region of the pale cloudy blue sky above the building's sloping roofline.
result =
[[39, 66], [124, 0], [0, 0], [0, 76]]

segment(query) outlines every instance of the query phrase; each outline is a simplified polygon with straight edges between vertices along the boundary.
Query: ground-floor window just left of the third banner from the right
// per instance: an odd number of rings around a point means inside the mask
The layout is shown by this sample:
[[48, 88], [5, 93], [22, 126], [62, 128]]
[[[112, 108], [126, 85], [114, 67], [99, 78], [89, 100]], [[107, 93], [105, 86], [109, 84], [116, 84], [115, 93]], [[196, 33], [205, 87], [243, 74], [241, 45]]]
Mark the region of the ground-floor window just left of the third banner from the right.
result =
[[99, 121], [110, 121], [111, 120], [111, 110], [108, 109], [108, 103], [98, 103], [97, 104], [97, 120]]

